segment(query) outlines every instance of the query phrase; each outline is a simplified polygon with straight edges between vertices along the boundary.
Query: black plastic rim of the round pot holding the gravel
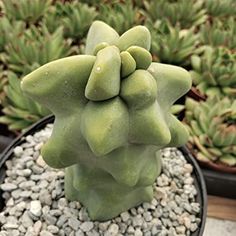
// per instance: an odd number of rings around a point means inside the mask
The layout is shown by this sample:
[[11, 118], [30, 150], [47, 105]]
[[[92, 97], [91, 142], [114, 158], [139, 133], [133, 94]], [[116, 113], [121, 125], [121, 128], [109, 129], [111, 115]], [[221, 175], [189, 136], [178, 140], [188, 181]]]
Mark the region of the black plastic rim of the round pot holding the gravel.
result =
[[[0, 184], [4, 181], [5, 178], [5, 165], [7, 159], [11, 158], [11, 155], [13, 153], [13, 150], [16, 146], [20, 145], [24, 142], [24, 137], [26, 137], [29, 134], [34, 134], [35, 132], [43, 129], [48, 123], [52, 123], [54, 121], [53, 116], [46, 117], [39, 122], [32, 125], [25, 133], [19, 135], [1, 154], [0, 156]], [[195, 180], [195, 186], [198, 191], [197, 195], [197, 201], [201, 204], [201, 212], [200, 212], [200, 218], [201, 223], [199, 225], [199, 228], [197, 231], [191, 234], [191, 236], [202, 236], [205, 222], [206, 222], [206, 213], [207, 213], [207, 192], [206, 192], [206, 186], [204, 182], [204, 178], [201, 172], [201, 169], [199, 168], [196, 160], [193, 158], [193, 156], [190, 154], [188, 149], [186, 147], [180, 148], [180, 151], [184, 154], [186, 160], [188, 163], [193, 165], [193, 177]], [[2, 198], [2, 193], [0, 192], [0, 211], [4, 207], [4, 200]]]

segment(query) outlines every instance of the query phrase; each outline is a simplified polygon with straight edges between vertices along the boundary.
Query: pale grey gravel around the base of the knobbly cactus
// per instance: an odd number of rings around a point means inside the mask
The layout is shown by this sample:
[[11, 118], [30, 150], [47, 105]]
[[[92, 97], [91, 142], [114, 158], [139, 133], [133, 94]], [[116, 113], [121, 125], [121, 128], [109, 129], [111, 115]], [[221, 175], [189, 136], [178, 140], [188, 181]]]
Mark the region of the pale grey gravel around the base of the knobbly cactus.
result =
[[0, 185], [6, 207], [0, 213], [0, 236], [184, 236], [200, 223], [192, 166], [180, 151], [162, 151], [163, 171], [154, 184], [151, 203], [123, 212], [113, 220], [89, 219], [79, 202], [64, 197], [64, 172], [48, 167], [40, 148], [52, 125], [29, 135], [6, 162], [5, 182]]

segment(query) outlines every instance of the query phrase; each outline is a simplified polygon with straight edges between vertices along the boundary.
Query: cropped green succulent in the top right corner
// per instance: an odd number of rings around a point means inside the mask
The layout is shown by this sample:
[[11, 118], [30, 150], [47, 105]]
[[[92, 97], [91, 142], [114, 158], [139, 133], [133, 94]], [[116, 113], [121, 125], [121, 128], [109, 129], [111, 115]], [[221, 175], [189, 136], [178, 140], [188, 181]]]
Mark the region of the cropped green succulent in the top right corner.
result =
[[205, 0], [204, 7], [213, 17], [235, 17], [236, 14], [235, 0]]

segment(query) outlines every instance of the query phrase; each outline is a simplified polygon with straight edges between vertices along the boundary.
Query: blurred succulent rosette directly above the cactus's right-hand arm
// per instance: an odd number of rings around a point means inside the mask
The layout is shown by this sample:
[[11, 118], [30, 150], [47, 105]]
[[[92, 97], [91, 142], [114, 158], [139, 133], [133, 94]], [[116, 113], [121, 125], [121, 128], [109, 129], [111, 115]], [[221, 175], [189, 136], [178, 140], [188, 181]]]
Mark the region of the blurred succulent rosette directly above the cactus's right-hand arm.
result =
[[191, 55], [198, 53], [198, 35], [193, 30], [172, 27], [167, 21], [147, 22], [147, 26], [152, 34], [151, 52], [156, 61], [187, 66]]

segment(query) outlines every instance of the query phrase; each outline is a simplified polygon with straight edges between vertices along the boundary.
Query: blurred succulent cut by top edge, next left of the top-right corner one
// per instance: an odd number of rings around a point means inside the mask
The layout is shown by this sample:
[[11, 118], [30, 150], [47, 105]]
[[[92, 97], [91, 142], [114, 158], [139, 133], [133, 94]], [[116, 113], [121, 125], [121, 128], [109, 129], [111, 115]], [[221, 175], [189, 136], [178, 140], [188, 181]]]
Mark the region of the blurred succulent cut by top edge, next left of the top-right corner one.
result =
[[173, 26], [179, 25], [182, 29], [198, 26], [207, 19], [201, 0], [152, 0], [145, 2], [145, 6], [147, 16], [150, 16], [153, 22], [168, 20]]

